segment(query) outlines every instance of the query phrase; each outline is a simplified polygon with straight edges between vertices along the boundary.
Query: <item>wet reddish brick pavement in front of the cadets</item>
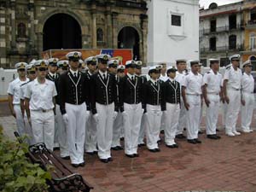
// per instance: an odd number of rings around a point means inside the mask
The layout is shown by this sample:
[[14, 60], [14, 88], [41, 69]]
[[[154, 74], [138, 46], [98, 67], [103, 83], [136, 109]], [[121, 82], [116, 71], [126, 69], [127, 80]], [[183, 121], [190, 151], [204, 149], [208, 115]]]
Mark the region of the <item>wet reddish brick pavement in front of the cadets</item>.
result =
[[[12, 117], [0, 117], [0, 124], [12, 134]], [[156, 154], [139, 148], [140, 157], [135, 159], [125, 157], [124, 151], [113, 151], [113, 162], [108, 164], [96, 155], [85, 155], [85, 167], [70, 168], [94, 186], [93, 192], [256, 191], [256, 131], [238, 137], [226, 137], [220, 131], [220, 136], [214, 141], [203, 134], [203, 143], [197, 145], [179, 140], [180, 147], [175, 149], [161, 143]], [[63, 162], [69, 166], [68, 160]]]

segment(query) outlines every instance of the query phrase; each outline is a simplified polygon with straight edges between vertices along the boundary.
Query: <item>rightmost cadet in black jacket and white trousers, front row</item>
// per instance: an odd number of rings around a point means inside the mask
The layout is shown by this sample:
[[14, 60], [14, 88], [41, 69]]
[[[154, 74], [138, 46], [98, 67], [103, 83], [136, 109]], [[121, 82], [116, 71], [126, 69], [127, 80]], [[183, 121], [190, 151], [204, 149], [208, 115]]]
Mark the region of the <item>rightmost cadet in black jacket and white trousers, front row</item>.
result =
[[177, 122], [180, 113], [180, 84], [175, 80], [177, 69], [169, 67], [167, 69], [168, 79], [163, 84], [163, 100], [165, 115], [165, 143], [168, 148], [177, 148], [175, 135], [177, 132]]

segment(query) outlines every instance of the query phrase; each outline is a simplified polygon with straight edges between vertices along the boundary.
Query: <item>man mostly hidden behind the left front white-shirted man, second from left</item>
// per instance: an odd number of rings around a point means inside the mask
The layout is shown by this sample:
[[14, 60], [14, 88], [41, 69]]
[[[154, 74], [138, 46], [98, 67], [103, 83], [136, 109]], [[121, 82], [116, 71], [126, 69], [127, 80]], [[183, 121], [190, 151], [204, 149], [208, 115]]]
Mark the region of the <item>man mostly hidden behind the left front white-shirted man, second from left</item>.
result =
[[27, 120], [27, 115], [25, 110], [25, 93], [26, 93], [27, 84], [29, 84], [30, 82], [32, 82], [32, 80], [37, 78], [36, 67], [34, 66], [33, 63], [34, 61], [30, 62], [30, 64], [26, 66], [26, 73], [27, 73], [26, 77], [29, 79], [29, 81], [20, 85], [20, 108], [22, 113], [24, 114], [25, 131], [26, 131], [26, 134], [29, 136], [29, 138], [27, 139], [27, 143], [29, 145], [34, 144], [34, 141], [32, 139], [32, 127]]

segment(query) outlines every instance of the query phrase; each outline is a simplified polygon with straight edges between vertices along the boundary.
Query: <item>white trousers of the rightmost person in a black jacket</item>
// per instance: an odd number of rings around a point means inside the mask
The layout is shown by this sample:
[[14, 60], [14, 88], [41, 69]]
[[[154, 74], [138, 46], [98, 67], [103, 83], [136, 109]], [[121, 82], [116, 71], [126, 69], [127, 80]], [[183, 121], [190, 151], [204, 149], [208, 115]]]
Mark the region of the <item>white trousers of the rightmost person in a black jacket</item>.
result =
[[177, 132], [180, 105], [166, 102], [166, 112], [164, 113], [165, 123], [165, 143], [166, 145], [176, 144], [174, 139]]

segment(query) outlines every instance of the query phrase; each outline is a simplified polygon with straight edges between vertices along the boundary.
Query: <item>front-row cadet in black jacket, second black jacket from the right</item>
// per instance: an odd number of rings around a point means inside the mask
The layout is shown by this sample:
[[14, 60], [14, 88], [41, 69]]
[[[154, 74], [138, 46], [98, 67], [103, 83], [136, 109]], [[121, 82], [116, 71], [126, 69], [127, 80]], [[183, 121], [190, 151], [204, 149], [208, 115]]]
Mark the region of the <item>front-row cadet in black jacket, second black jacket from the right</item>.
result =
[[154, 66], [150, 67], [148, 75], [150, 79], [143, 84], [143, 109], [145, 113], [147, 147], [150, 152], [160, 152], [158, 139], [160, 134], [161, 107], [164, 100], [162, 96], [162, 86], [158, 81], [160, 71]]

